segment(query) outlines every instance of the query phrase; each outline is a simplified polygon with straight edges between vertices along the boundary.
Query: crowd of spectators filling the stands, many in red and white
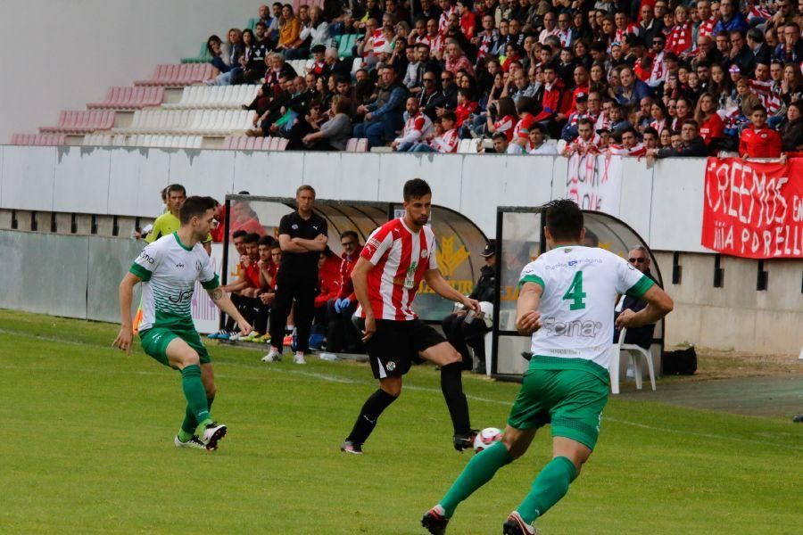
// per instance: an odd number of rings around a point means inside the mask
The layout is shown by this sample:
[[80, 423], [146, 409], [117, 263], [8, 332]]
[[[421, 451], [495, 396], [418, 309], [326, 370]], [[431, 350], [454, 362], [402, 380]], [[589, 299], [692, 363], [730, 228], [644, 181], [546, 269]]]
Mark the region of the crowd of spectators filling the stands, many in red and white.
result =
[[[209, 38], [221, 72], [209, 83], [260, 83], [247, 135], [284, 136], [291, 150], [361, 137], [456, 152], [484, 138], [487, 152], [778, 157], [803, 149], [801, 10], [801, 0], [276, 3], [253, 31]], [[336, 47], [351, 34], [357, 69]], [[301, 72], [289, 63], [307, 58]]]

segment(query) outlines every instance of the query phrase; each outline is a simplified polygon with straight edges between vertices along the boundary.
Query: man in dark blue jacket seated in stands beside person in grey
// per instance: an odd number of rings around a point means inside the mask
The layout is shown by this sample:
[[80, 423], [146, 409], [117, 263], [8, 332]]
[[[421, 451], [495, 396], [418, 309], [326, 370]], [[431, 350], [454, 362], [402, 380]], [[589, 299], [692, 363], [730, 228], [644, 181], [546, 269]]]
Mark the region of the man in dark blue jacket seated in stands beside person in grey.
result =
[[378, 147], [393, 140], [395, 132], [402, 128], [404, 104], [408, 91], [396, 79], [393, 68], [381, 65], [381, 78], [377, 98], [367, 105], [360, 105], [358, 113], [365, 113], [365, 121], [354, 127], [354, 137], [367, 137], [368, 146]]

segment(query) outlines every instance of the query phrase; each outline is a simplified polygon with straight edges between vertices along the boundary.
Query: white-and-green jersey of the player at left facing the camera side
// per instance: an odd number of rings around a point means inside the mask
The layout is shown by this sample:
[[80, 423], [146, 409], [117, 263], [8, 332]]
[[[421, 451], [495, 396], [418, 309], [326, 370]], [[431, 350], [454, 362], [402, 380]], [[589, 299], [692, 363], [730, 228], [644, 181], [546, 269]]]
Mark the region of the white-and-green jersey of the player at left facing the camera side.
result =
[[195, 328], [191, 313], [195, 281], [207, 290], [219, 285], [203, 245], [195, 243], [190, 249], [175, 232], [148, 243], [130, 271], [143, 281], [140, 333], [152, 327]]

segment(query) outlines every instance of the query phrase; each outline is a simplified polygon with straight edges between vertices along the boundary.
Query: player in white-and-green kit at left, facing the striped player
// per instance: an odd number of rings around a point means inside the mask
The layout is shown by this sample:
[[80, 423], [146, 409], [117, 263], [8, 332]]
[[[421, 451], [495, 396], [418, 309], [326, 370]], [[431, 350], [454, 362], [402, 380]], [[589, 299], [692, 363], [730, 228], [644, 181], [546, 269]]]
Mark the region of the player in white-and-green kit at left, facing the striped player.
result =
[[[251, 325], [219, 288], [218, 276], [201, 245], [214, 224], [215, 205], [211, 197], [189, 197], [181, 207], [178, 230], [145, 246], [120, 283], [122, 323], [112, 345], [130, 352], [131, 300], [134, 286], [143, 283], [142, 348], [161, 364], [181, 371], [186, 416], [174, 440], [181, 448], [217, 449], [227, 431], [226, 425], [212, 420], [210, 414], [215, 378], [209, 353], [193, 324], [190, 307], [195, 281], [201, 282], [219, 309], [236, 319], [243, 333], [251, 331]], [[201, 437], [195, 435], [199, 426]]]

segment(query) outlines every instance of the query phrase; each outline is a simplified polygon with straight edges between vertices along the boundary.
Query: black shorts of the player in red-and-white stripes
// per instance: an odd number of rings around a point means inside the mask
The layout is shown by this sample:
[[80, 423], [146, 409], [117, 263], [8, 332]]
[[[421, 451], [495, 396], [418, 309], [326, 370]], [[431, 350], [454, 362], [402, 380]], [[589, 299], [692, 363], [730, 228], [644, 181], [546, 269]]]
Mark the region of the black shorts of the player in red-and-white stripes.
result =
[[377, 319], [377, 332], [366, 344], [374, 377], [401, 377], [410, 371], [413, 362], [421, 361], [419, 351], [441, 342], [446, 342], [443, 335], [420, 319]]

